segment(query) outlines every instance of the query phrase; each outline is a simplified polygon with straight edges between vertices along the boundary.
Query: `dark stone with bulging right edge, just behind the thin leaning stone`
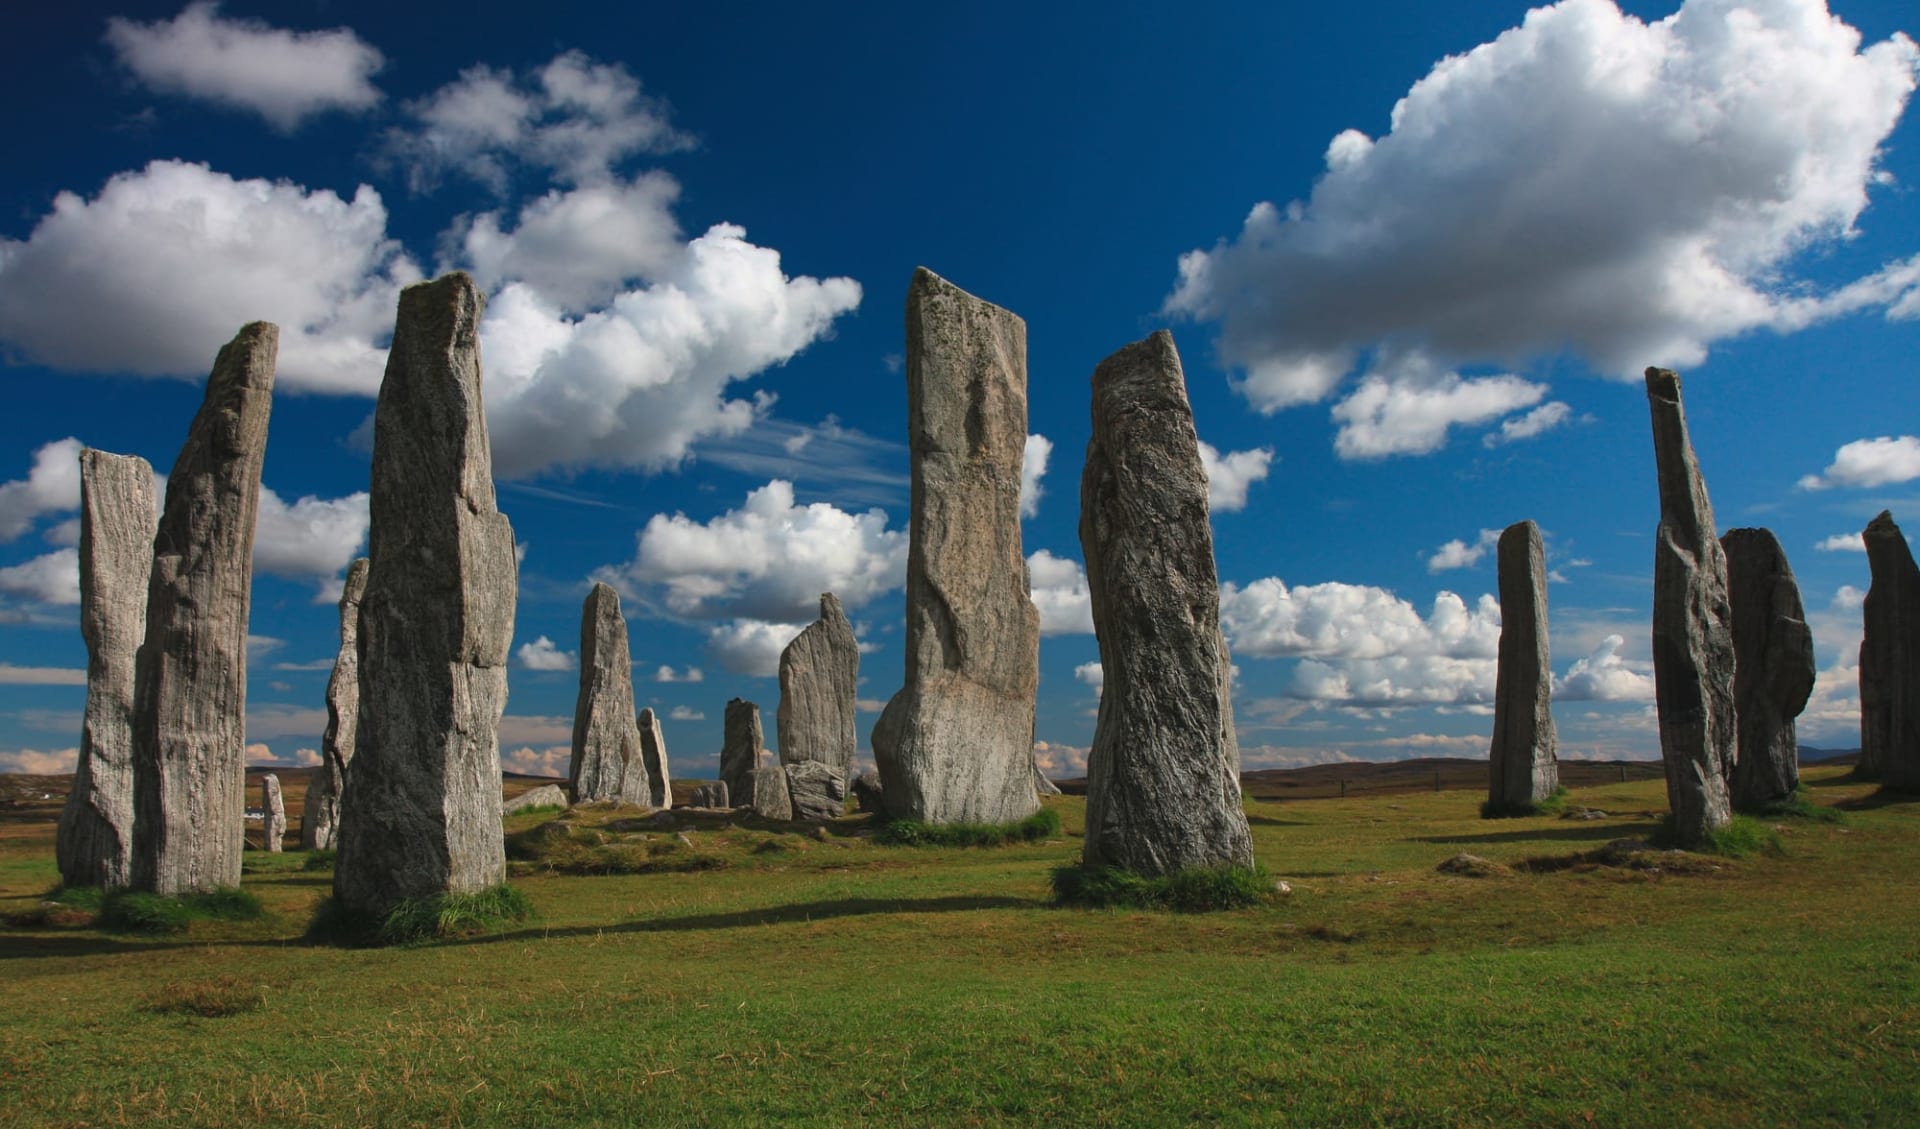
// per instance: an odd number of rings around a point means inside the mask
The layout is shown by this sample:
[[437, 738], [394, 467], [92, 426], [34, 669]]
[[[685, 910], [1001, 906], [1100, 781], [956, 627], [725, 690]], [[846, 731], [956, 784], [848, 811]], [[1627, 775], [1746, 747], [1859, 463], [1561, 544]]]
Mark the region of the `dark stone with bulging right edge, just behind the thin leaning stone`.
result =
[[1734, 607], [1734, 714], [1740, 760], [1728, 780], [1734, 810], [1793, 799], [1799, 739], [1793, 718], [1812, 695], [1812, 630], [1793, 568], [1772, 530], [1728, 530], [1726, 597]]

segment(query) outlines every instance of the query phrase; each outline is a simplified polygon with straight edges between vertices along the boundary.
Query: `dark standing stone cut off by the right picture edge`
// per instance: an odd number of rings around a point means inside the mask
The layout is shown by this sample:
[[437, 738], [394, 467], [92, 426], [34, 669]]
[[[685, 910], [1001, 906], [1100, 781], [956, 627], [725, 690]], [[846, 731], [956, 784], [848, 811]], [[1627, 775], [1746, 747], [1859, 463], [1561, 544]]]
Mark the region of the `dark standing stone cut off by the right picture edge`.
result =
[[1860, 776], [1920, 791], [1920, 568], [1893, 515], [1866, 524], [1860, 607]]

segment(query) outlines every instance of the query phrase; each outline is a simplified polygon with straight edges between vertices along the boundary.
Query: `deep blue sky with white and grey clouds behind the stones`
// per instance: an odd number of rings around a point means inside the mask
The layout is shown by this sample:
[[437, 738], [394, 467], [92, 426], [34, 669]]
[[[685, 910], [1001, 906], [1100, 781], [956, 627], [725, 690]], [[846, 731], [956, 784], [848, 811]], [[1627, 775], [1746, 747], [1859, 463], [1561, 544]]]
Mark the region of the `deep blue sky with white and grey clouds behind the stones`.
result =
[[524, 545], [509, 768], [564, 772], [591, 578], [682, 776], [730, 697], [774, 709], [824, 588], [864, 707], [899, 687], [916, 265], [1027, 319], [1056, 774], [1098, 684], [1087, 380], [1160, 326], [1215, 455], [1248, 768], [1484, 757], [1521, 518], [1563, 757], [1657, 757], [1645, 365], [1684, 372], [1722, 530], [1799, 574], [1803, 741], [1857, 743], [1855, 534], [1920, 526], [1908, 6], [705, 8], [0, 15], [0, 770], [79, 741], [77, 444], [165, 472], [252, 319], [282, 355], [248, 733], [311, 758], [394, 294], [451, 267], [490, 292]]

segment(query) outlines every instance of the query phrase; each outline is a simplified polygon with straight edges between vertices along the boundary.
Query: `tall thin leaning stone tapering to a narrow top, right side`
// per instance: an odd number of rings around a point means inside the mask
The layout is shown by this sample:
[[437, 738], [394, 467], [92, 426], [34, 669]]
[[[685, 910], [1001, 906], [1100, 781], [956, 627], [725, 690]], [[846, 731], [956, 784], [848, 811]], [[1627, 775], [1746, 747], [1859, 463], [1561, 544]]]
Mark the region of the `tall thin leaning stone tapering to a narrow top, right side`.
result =
[[1732, 818], [1726, 778], [1734, 726], [1734, 613], [1726, 555], [1680, 407], [1680, 376], [1647, 369], [1661, 526], [1653, 547], [1653, 697], [1674, 839], [1697, 847]]

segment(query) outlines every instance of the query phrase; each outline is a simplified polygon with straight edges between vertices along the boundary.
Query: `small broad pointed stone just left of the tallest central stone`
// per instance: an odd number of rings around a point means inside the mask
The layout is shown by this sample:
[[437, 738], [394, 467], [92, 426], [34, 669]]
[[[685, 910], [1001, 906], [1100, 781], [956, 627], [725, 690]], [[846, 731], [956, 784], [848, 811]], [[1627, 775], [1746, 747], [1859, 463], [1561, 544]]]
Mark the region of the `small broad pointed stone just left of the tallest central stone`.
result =
[[820, 618], [780, 653], [780, 762], [826, 764], [847, 778], [860, 743], [852, 728], [860, 685], [860, 641], [831, 591], [820, 593]]

